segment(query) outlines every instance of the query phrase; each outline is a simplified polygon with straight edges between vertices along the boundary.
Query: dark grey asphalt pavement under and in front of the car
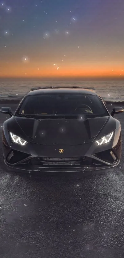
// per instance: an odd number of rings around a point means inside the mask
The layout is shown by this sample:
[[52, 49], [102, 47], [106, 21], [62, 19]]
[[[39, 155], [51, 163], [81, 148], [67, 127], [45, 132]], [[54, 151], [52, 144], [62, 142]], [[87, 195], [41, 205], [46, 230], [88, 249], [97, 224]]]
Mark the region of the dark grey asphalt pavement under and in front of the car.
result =
[[37, 175], [7, 172], [0, 141], [1, 257], [124, 257], [124, 141], [110, 172]]

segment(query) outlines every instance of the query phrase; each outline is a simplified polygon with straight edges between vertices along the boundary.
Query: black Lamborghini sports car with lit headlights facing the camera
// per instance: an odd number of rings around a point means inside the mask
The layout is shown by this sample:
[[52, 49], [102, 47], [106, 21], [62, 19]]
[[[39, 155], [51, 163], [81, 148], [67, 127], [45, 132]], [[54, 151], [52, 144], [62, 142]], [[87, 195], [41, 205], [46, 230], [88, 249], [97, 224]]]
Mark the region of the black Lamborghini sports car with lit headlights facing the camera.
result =
[[3, 123], [5, 164], [11, 170], [84, 171], [119, 164], [121, 125], [92, 89], [31, 90]]

